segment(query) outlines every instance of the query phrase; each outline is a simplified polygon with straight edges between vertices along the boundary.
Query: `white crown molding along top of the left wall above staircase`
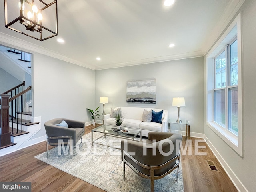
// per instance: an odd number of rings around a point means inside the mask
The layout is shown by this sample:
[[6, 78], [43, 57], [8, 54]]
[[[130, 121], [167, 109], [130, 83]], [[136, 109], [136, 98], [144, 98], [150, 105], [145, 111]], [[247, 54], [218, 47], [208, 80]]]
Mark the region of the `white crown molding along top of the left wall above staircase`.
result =
[[4, 46], [9, 46], [9, 47], [12, 47], [12, 48], [15, 48], [15, 49], [21, 49], [23, 51], [30, 52], [32, 54], [36, 52], [36, 53], [39, 53], [39, 54], [50, 56], [50, 57], [53, 57], [53, 58], [56, 58], [56, 59], [59, 59], [59, 60], [63, 60], [63, 61], [66, 61], [66, 62], [69, 62], [69, 63], [72, 63], [72, 64], [76, 64], [76, 65], [94, 70], [94, 68], [92, 66], [87, 65], [83, 62], [79, 62], [79, 61], [74, 60], [72, 58], [68, 58], [68, 57], [66, 57], [66, 56], [64, 56], [64, 55], [62, 55], [58, 52], [54, 52], [54, 51], [46, 49], [42, 46], [39, 46], [39, 45], [30, 43], [30, 42], [21, 40], [19, 38], [10, 36], [8, 34], [4, 34], [2, 32], [0, 32], [0, 44], [2, 44]]

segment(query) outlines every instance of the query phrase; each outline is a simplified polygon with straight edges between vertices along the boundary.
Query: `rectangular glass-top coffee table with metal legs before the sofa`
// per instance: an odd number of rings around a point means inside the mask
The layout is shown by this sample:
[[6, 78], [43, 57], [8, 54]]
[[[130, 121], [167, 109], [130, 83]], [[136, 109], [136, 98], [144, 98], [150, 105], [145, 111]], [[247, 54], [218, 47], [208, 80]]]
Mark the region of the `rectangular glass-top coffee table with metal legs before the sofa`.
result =
[[[93, 132], [102, 133], [103, 135], [100, 136], [99, 138], [102, 138], [103, 136], [106, 138], [106, 135], [108, 135], [108, 136], [112, 136], [112, 137], [118, 137], [118, 138], [123, 138], [123, 139], [132, 139], [132, 140], [134, 140], [134, 138], [136, 138], [136, 136], [138, 136], [140, 134], [140, 141], [142, 140], [141, 129], [125, 127], [125, 128], [128, 128], [128, 132], [122, 132], [122, 131], [113, 132], [112, 128], [116, 128], [116, 126], [101, 125], [97, 128], [92, 129], [92, 145], [94, 143]], [[98, 140], [99, 138], [97, 138], [96, 140]], [[113, 147], [113, 148], [116, 148], [116, 147]], [[120, 149], [120, 148], [117, 148], [117, 149]]]

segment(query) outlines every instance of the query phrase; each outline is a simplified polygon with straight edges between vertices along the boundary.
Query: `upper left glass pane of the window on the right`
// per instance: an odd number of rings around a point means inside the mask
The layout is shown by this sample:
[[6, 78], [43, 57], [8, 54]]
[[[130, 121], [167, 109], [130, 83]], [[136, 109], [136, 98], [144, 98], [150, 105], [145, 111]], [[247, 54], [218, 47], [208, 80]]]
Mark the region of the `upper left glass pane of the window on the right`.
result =
[[215, 88], [222, 88], [226, 86], [226, 55], [222, 52], [215, 59]]

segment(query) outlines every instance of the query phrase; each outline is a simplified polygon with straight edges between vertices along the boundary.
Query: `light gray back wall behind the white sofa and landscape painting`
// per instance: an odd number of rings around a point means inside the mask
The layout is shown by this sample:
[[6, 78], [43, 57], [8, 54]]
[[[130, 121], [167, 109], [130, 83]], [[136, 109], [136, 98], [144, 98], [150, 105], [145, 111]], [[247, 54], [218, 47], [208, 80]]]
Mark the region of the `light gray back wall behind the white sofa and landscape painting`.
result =
[[[156, 104], [126, 103], [126, 82], [156, 78]], [[137, 66], [96, 70], [96, 101], [108, 96], [105, 111], [110, 107], [138, 106], [168, 110], [169, 118], [177, 118], [178, 110], [172, 106], [173, 97], [185, 97], [186, 106], [181, 107], [182, 119], [190, 120], [190, 131], [203, 133], [203, 58], [190, 58]]]

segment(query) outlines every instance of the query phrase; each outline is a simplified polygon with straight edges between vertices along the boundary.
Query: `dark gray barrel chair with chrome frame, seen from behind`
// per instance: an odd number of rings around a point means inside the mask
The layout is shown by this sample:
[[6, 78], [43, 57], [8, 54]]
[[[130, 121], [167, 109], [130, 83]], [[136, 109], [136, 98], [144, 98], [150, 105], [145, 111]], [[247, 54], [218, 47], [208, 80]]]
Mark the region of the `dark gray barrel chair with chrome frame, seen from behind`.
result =
[[[153, 144], [153, 140], [156, 140]], [[164, 141], [162, 141], [164, 140]], [[174, 149], [171, 149], [172, 142]], [[146, 144], [155, 145], [156, 152], [152, 148], [146, 149], [146, 155], [143, 154], [143, 141], [137, 142], [132, 140], [122, 140], [122, 161], [123, 161], [123, 178], [125, 180], [125, 164], [134, 172], [143, 178], [150, 179], [151, 192], [154, 192], [154, 180], [161, 179], [177, 168], [178, 172], [180, 164], [180, 145], [177, 140], [182, 140], [182, 135], [167, 132], [149, 132]], [[162, 141], [162, 142], [161, 142]], [[178, 150], [176, 151], [176, 145]], [[159, 148], [162, 148], [162, 150]], [[135, 154], [131, 154], [135, 153]]]

